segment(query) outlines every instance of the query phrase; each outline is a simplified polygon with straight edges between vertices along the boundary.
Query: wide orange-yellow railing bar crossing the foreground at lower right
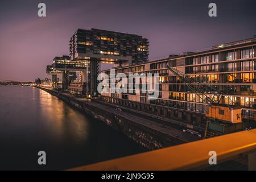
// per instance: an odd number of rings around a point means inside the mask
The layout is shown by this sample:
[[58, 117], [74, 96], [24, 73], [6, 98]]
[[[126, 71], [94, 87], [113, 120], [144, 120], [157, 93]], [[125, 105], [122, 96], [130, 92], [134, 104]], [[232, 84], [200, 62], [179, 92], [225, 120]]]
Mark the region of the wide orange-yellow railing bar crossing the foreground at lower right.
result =
[[256, 129], [221, 135], [196, 142], [126, 156], [70, 170], [189, 170], [209, 167], [209, 152], [215, 151], [217, 164], [248, 155], [248, 167], [256, 170]]

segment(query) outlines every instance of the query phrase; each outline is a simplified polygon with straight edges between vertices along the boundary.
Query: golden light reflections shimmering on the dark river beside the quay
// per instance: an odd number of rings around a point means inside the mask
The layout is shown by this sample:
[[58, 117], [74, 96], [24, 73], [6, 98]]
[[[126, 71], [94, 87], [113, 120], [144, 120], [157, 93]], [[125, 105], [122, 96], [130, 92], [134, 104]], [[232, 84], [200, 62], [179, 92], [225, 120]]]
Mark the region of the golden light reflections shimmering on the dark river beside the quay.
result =
[[[77, 114], [76, 110], [58, 100], [51, 94], [39, 90], [39, 117], [47, 115], [47, 127], [51, 129], [52, 137], [62, 140], [66, 135], [71, 135], [73, 142], [85, 142], [89, 133], [87, 118], [82, 114]], [[68, 119], [67, 119], [68, 118]], [[69, 119], [69, 118], [72, 118]]]

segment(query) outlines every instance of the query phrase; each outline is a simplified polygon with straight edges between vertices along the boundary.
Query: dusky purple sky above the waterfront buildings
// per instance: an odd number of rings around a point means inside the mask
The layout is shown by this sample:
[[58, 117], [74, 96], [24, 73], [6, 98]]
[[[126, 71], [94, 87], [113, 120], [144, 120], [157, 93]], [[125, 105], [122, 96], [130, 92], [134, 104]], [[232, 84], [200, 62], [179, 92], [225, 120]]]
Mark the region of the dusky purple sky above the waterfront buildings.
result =
[[[38, 3], [47, 6], [39, 18]], [[210, 2], [217, 18], [208, 16]], [[142, 35], [150, 60], [256, 35], [256, 1], [5, 1], [0, 6], [0, 81], [46, 77], [55, 56], [69, 54], [77, 28]]]

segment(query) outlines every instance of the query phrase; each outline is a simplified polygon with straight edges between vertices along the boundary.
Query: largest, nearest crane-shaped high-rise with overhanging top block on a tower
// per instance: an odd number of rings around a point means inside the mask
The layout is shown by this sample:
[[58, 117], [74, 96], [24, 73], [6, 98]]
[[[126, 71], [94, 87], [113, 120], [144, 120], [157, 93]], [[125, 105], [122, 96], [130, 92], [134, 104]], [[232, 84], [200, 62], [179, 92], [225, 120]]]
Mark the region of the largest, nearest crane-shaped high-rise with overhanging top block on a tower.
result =
[[100, 63], [121, 67], [148, 61], [148, 40], [134, 34], [78, 29], [70, 39], [69, 52], [71, 61], [87, 61], [86, 93], [94, 95]]

